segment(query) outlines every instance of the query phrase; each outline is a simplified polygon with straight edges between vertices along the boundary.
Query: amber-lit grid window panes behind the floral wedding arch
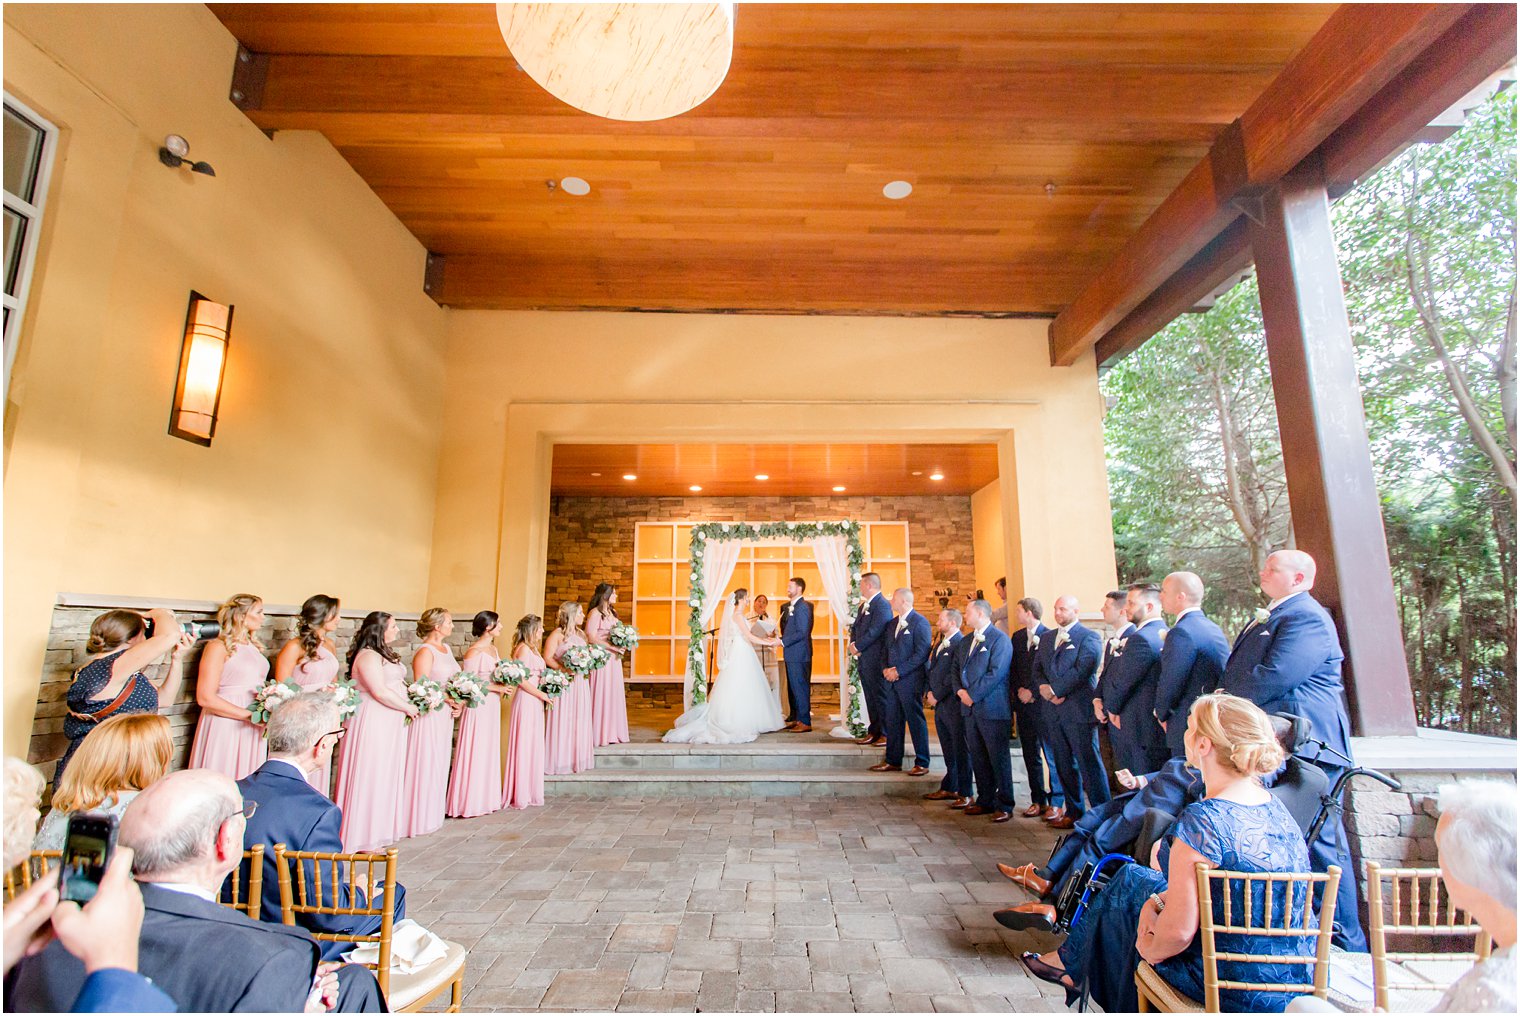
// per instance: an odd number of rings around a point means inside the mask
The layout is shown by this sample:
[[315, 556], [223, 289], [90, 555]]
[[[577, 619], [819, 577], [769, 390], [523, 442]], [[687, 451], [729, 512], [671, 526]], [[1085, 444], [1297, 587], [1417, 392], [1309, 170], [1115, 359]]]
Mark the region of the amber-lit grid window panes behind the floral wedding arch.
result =
[[[907, 523], [866, 522], [860, 526], [866, 570], [880, 572], [882, 589], [907, 586]], [[724, 593], [740, 586], [771, 599], [771, 618], [786, 602], [786, 579], [807, 581], [813, 604], [813, 681], [839, 678], [839, 618], [824, 592], [813, 548], [801, 543], [745, 546]], [[640, 522], [634, 528], [634, 616], [638, 648], [631, 680], [679, 681], [686, 674], [687, 598], [692, 587], [692, 526]]]

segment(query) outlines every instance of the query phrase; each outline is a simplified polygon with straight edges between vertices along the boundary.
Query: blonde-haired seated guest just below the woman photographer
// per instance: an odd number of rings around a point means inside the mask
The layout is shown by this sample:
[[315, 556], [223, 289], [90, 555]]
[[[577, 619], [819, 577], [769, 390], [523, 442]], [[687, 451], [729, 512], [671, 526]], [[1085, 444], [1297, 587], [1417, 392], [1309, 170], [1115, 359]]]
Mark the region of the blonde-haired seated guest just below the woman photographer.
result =
[[111, 716], [85, 735], [74, 760], [53, 791], [53, 811], [32, 841], [33, 850], [62, 850], [68, 815], [79, 811], [120, 817], [137, 792], [169, 771], [175, 742], [169, 718], [158, 713]]

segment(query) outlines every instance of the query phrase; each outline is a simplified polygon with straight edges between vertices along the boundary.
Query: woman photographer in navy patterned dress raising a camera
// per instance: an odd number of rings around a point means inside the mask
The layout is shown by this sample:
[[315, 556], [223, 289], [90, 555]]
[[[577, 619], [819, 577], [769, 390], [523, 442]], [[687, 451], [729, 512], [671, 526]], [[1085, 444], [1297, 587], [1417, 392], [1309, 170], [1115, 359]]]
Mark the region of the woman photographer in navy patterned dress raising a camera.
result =
[[[170, 704], [179, 694], [184, 651], [195, 640], [179, 628], [172, 610], [150, 610], [147, 618], [154, 622], [150, 639], [143, 614], [135, 610], [108, 610], [90, 624], [85, 643], [90, 659], [68, 686], [68, 715], [64, 716], [68, 750], [53, 771], [55, 786], [68, 759], [74, 757], [74, 748], [102, 719], [157, 713], [160, 701]], [[169, 666], [155, 684], [141, 671], [166, 652], [170, 654]]]

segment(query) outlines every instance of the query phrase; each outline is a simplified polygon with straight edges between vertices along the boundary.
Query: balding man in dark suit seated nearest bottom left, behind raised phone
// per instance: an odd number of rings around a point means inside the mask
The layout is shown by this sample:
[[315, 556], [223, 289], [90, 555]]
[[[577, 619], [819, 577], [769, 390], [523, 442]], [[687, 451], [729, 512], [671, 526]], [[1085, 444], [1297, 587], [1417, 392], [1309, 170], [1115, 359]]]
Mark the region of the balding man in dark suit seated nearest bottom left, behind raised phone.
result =
[[[304, 929], [254, 922], [216, 902], [243, 855], [248, 811], [231, 777], [213, 770], [172, 773], [126, 809], [117, 841], [135, 855], [146, 908], [138, 969], [182, 1013], [382, 1011], [368, 969], [328, 969]], [[6, 1007], [62, 1011], [85, 973], [53, 941], [17, 964]]]

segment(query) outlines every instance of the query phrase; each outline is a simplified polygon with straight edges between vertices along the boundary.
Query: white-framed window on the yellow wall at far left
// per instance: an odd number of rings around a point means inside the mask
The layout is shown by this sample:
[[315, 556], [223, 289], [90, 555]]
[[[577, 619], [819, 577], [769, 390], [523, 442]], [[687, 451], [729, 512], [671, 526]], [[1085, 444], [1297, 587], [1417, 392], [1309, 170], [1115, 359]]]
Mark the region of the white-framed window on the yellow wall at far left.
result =
[[5, 97], [5, 391], [11, 389], [56, 137], [52, 123]]

